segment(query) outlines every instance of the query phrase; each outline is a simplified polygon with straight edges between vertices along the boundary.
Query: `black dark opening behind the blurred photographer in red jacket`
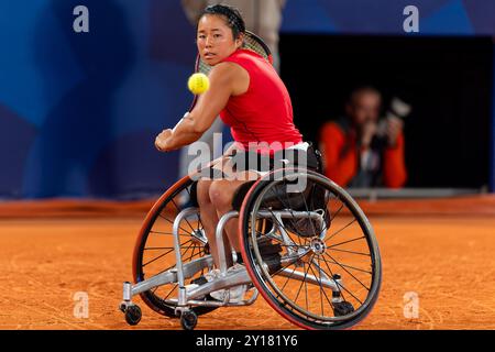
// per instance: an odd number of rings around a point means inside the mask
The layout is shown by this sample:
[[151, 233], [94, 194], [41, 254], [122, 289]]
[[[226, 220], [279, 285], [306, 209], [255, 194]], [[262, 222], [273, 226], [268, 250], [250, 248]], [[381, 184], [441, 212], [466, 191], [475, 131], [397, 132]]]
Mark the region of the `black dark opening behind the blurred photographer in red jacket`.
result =
[[493, 43], [490, 37], [282, 35], [282, 77], [305, 138], [373, 85], [413, 106], [406, 119], [407, 187], [488, 183]]

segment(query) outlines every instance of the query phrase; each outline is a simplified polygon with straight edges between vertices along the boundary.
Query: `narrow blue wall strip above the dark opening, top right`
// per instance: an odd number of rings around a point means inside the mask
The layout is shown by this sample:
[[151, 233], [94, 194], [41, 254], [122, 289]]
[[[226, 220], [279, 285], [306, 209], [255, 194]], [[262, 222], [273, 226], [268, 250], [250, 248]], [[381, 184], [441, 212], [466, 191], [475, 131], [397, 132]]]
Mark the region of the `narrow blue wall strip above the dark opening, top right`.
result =
[[288, 0], [283, 32], [400, 35], [410, 4], [420, 35], [495, 34], [492, 0]]

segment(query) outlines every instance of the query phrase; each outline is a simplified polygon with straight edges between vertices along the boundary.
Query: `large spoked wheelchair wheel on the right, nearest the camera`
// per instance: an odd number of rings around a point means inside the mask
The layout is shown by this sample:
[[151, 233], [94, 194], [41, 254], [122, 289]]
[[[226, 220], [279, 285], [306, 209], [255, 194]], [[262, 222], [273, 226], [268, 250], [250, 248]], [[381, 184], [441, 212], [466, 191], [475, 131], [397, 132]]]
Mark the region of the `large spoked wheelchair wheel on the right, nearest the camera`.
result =
[[306, 169], [278, 169], [248, 193], [239, 220], [254, 286], [305, 329], [348, 329], [372, 310], [382, 282], [377, 241], [351, 196]]

